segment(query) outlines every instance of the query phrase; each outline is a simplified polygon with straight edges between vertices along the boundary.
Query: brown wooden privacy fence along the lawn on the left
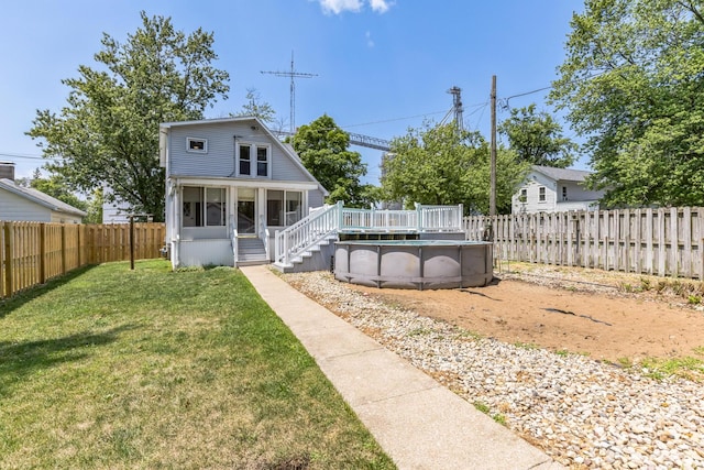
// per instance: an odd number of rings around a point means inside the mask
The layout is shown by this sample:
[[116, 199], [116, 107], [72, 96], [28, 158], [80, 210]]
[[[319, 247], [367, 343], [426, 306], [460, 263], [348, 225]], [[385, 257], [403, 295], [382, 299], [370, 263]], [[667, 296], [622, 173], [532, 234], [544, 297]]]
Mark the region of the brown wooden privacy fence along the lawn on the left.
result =
[[[134, 258], [160, 256], [164, 223], [134, 225]], [[130, 225], [0, 221], [0, 298], [87, 264], [130, 259]]]

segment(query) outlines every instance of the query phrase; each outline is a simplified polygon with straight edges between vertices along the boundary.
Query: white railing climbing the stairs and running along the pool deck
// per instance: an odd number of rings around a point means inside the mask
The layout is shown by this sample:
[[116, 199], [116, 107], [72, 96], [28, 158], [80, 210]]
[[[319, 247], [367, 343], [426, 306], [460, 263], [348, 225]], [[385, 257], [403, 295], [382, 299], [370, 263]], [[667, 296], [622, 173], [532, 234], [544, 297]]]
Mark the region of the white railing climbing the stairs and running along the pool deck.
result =
[[276, 231], [274, 262], [289, 266], [292, 260], [339, 232], [458, 232], [463, 206], [422, 206], [415, 210], [348, 208], [338, 203], [311, 210], [293, 226]]

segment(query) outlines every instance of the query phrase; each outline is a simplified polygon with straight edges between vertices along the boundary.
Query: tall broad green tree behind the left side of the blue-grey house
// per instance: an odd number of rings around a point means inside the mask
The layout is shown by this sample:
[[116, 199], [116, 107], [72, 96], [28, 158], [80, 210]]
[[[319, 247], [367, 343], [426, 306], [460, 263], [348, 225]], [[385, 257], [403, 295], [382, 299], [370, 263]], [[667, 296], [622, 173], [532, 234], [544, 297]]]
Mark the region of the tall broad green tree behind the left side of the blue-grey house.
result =
[[164, 217], [164, 172], [158, 166], [158, 124], [201, 119], [227, 98], [227, 72], [213, 67], [212, 33], [176, 31], [170, 19], [141, 13], [142, 26], [124, 43], [103, 33], [97, 68], [78, 67], [67, 105], [38, 110], [28, 132], [40, 139], [46, 167], [72, 189], [109, 187], [135, 212]]

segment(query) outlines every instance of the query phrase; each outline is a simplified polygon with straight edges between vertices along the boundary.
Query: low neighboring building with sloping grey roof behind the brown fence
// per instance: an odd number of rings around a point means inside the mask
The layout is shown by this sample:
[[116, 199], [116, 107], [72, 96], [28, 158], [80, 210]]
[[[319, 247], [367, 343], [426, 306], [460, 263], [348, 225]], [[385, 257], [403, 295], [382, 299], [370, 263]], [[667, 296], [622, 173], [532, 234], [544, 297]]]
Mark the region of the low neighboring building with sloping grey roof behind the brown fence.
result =
[[0, 179], [0, 220], [80, 223], [86, 212], [34, 188]]

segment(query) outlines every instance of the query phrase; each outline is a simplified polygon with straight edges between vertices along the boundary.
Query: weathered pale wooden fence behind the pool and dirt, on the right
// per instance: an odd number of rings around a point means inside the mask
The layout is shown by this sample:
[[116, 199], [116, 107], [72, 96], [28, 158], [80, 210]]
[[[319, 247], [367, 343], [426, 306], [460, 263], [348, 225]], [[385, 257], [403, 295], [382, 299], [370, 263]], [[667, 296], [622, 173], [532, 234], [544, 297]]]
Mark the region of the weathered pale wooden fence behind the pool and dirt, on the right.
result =
[[499, 260], [704, 280], [704, 208], [465, 217], [469, 240], [492, 222]]

